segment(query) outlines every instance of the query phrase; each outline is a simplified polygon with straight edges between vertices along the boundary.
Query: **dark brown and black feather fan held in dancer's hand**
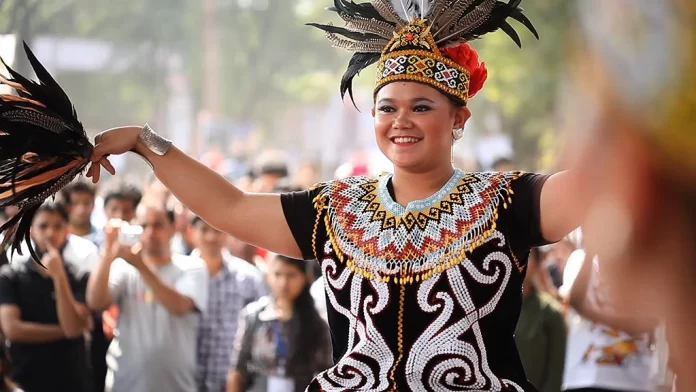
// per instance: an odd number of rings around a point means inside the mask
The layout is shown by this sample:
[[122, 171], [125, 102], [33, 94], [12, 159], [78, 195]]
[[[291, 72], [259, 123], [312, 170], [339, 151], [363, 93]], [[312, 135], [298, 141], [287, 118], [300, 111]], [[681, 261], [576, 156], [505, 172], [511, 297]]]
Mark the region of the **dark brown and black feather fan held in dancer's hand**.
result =
[[39, 82], [4, 61], [11, 77], [0, 76], [0, 83], [18, 94], [0, 94], [0, 207], [19, 207], [19, 213], [0, 227], [0, 246], [11, 245], [22, 254], [25, 241], [40, 263], [29, 236], [32, 219], [47, 198], [89, 164], [94, 146], [63, 89], [26, 44], [24, 50]]

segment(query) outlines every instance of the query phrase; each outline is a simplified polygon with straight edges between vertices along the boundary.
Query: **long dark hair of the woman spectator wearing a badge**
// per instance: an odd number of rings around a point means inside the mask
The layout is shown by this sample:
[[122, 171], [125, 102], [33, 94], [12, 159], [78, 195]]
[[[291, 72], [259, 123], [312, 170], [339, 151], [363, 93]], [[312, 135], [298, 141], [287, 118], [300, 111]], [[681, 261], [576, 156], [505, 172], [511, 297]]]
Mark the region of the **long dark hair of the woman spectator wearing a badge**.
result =
[[[278, 255], [276, 260], [292, 265], [305, 274], [307, 274], [310, 267], [307, 261], [286, 256]], [[312, 298], [312, 294], [309, 292], [310, 287], [311, 282], [307, 279], [305, 287], [300, 295], [295, 298], [293, 306], [293, 318], [299, 321], [300, 332], [298, 341], [302, 342], [303, 349], [297, 350], [295, 358], [291, 360], [302, 361], [300, 363], [314, 363], [316, 353], [322, 349], [320, 345], [326, 344], [324, 340], [318, 339], [319, 336], [325, 333], [326, 325], [324, 319], [317, 312], [314, 298]]]

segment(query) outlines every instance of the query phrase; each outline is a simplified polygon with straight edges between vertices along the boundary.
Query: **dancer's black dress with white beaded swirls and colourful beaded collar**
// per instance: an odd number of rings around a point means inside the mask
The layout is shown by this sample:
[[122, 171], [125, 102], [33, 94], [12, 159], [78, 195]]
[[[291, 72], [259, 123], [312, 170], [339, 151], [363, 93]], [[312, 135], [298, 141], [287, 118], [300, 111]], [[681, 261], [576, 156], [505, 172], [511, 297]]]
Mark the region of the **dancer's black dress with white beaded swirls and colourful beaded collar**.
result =
[[308, 391], [536, 391], [513, 334], [546, 177], [457, 170], [406, 206], [390, 178], [311, 193], [335, 366]]

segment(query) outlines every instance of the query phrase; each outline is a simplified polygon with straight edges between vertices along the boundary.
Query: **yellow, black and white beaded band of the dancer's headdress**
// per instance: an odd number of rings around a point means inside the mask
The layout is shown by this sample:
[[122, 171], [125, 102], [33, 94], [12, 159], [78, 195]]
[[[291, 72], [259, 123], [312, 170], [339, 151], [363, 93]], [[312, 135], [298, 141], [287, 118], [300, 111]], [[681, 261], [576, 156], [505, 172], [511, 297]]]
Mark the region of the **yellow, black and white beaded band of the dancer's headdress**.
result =
[[443, 56], [424, 20], [404, 26], [377, 63], [375, 91], [397, 80], [429, 84], [446, 94], [469, 99], [469, 70]]

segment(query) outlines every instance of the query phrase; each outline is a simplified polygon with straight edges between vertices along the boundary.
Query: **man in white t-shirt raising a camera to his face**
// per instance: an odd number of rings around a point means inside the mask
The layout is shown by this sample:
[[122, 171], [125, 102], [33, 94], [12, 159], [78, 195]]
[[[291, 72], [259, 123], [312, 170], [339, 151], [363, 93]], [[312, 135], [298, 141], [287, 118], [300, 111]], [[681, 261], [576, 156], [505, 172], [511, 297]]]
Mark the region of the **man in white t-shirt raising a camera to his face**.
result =
[[135, 222], [142, 226], [135, 245], [119, 239], [124, 222], [107, 224], [87, 287], [92, 309], [120, 309], [110, 348], [117, 365], [111, 391], [195, 392], [196, 331], [208, 303], [208, 270], [200, 259], [171, 253], [172, 211], [141, 204]]

